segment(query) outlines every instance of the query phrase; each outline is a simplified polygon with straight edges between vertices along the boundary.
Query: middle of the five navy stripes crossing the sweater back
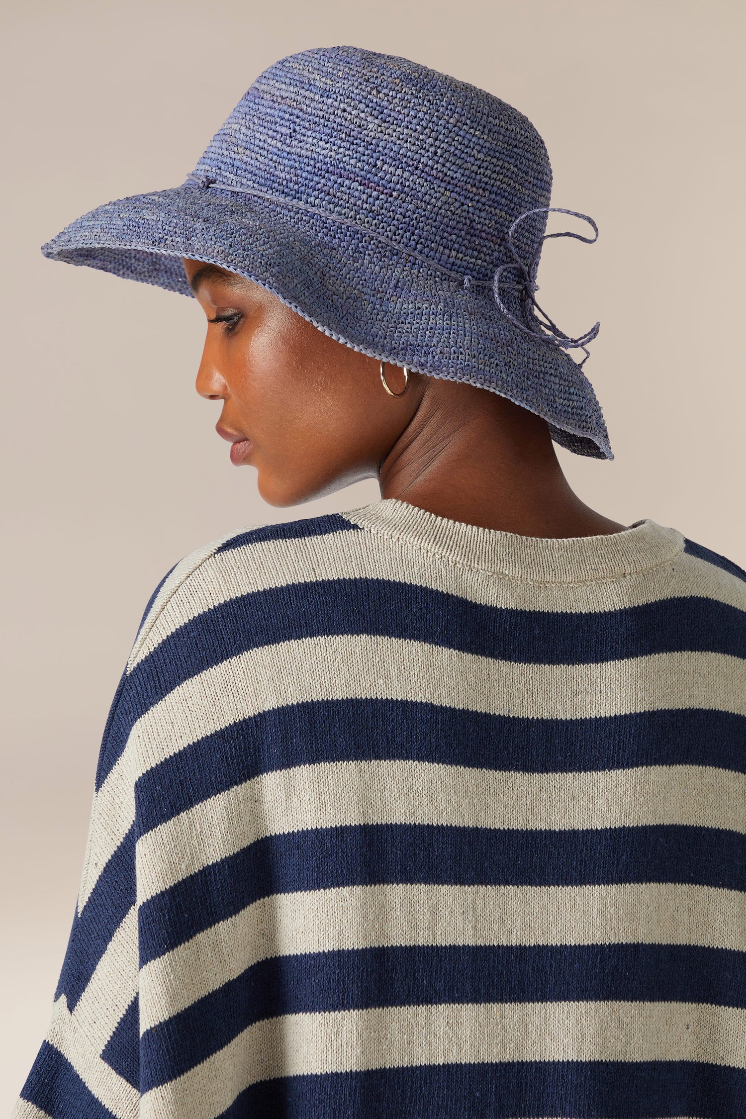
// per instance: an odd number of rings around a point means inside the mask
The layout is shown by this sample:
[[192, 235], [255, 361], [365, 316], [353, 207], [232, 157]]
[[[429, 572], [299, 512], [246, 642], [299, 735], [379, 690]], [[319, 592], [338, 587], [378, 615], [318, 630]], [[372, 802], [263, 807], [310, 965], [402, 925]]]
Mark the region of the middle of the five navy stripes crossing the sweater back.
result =
[[140, 906], [140, 966], [271, 894], [375, 883], [746, 890], [746, 836], [693, 827], [523, 831], [425, 825], [267, 836]]

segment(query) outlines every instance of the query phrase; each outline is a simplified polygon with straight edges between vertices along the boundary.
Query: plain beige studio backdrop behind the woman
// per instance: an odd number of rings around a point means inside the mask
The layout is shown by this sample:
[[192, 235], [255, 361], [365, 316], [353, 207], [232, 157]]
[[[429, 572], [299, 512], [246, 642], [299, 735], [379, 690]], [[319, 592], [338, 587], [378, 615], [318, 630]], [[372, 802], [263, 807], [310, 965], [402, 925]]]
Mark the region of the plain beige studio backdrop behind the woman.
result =
[[7, 1113], [48, 1022], [100, 736], [152, 587], [230, 529], [377, 496], [263, 505], [193, 392], [197, 304], [39, 245], [110, 198], [181, 182], [295, 50], [369, 47], [483, 86], [545, 138], [553, 204], [601, 229], [593, 247], [549, 242], [539, 273], [564, 329], [602, 323], [586, 370], [616, 460], [560, 452], [572, 482], [616, 520], [652, 517], [744, 565], [746, 6], [6, 0], [0, 18]]

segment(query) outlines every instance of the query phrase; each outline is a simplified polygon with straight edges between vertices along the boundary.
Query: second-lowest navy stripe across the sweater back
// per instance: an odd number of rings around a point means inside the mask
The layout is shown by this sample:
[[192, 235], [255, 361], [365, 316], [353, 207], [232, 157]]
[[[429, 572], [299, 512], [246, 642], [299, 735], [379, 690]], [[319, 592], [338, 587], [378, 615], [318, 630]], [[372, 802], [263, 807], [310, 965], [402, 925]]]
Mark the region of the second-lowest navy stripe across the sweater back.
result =
[[142, 1036], [142, 1091], [263, 1018], [378, 1006], [577, 1000], [746, 1005], [746, 952], [678, 944], [375, 948], [263, 960]]

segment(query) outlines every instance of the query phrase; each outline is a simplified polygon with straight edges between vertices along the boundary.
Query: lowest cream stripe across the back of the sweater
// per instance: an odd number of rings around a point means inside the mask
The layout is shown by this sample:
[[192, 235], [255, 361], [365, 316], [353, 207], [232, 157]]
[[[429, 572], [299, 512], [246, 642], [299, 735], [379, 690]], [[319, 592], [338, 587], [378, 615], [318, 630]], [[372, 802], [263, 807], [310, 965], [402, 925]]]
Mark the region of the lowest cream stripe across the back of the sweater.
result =
[[248, 1084], [491, 1061], [702, 1061], [746, 1068], [746, 1010], [688, 1003], [468, 1003], [258, 1022], [142, 1098], [152, 1119], [214, 1119]]

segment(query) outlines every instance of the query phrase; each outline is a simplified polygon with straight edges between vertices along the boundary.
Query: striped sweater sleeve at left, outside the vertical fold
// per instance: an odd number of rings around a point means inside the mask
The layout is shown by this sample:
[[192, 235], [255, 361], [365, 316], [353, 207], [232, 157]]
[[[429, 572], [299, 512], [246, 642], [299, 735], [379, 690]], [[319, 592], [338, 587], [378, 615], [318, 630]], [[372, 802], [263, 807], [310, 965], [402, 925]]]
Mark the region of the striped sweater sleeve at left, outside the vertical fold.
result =
[[134, 784], [125, 749], [132, 714], [125, 673], [98, 756], [81, 888], [51, 1022], [12, 1119], [130, 1119], [139, 1113]]

